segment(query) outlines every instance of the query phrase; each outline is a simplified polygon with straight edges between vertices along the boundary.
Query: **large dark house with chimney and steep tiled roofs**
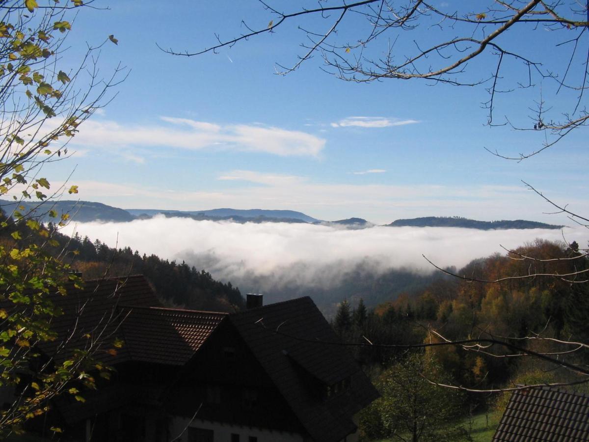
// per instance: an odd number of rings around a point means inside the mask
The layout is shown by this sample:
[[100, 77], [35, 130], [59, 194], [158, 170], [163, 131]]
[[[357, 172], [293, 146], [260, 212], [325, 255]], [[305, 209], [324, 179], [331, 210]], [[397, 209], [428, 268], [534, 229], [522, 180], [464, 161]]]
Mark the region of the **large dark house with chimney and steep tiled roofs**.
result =
[[[140, 275], [68, 293], [55, 298], [57, 342], [84, 348], [90, 336], [116, 369], [84, 403], [54, 401], [47, 421], [69, 440], [349, 442], [378, 397], [309, 297], [262, 306], [252, 296], [233, 314], [170, 309]], [[122, 348], [100, 344], [114, 338]]]

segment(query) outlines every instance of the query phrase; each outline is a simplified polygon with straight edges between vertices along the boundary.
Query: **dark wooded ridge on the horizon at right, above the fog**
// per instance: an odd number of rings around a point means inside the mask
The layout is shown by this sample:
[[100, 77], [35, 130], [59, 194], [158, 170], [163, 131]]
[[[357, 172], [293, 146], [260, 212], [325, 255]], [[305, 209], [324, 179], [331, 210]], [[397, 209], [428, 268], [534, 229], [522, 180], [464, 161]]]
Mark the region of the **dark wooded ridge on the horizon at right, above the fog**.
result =
[[561, 229], [564, 226], [526, 221], [517, 219], [514, 221], [477, 221], [460, 216], [425, 216], [421, 218], [398, 219], [387, 226], [392, 227], [462, 227], [463, 229], [478, 230], [507, 230], [507, 229]]

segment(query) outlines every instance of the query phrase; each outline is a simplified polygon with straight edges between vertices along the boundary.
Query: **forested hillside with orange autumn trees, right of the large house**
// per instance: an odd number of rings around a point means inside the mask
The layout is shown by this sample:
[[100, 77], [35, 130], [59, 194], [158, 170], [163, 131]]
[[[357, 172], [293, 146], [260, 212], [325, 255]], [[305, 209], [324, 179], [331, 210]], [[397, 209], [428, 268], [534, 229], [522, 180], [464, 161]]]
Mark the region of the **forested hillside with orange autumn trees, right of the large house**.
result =
[[[583, 347], [589, 342], [589, 282], [584, 276], [589, 260], [577, 243], [537, 240], [513, 252], [474, 260], [456, 272], [467, 279], [439, 279], [413, 296], [399, 296], [372, 310], [362, 300], [340, 304], [332, 324], [346, 341], [364, 344], [352, 349], [382, 394], [363, 412], [366, 436], [384, 438], [407, 431], [399, 427], [406, 415], [394, 417], [391, 410], [409, 413], [403, 408], [409, 400], [424, 407], [437, 404], [432, 415], [440, 420], [424, 429], [431, 433], [427, 440], [469, 440], [461, 419], [494, 410], [498, 415], [505, 407], [508, 393], [493, 391], [556, 382], [587, 392], [587, 376], [562, 364], [584, 368], [589, 362]], [[571, 273], [577, 275], [558, 276]], [[538, 274], [551, 276], [527, 277]], [[473, 281], [503, 278], [509, 279]], [[466, 348], [405, 347], [445, 339], [494, 339], [515, 347], [488, 341]], [[528, 351], [545, 358], [525, 356]], [[432, 390], [430, 381], [459, 390]]]

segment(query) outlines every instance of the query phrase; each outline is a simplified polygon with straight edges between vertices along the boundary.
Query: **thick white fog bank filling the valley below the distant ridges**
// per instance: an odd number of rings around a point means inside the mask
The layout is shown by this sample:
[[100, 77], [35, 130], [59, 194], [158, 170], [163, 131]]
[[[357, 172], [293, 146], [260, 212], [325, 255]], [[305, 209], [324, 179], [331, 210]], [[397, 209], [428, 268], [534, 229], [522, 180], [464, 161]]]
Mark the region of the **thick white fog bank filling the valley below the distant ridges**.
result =
[[[252, 281], [281, 285], [337, 285], [347, 272], [363, 268], [376, 274], [391, 269], [431, 273], [425, 255], [441, 267], [461, 268], [501, 248], [516, 248], [536, 238], [576, 240], [587, 244], [589, 230], [474, 230], [454, 227], [343, 227], [303, 223], [233, 223], [155, 216], [126, 223], [71, 223], [77, 232], [108, 246], [130, 247], [141, 255], [184, 261], [214, 278], [239, 285], [242, 292], [264, 287]], [[261, 279], [260, 279], [261, 278]], [[244, 286], [245, 284], [245, 286]]]

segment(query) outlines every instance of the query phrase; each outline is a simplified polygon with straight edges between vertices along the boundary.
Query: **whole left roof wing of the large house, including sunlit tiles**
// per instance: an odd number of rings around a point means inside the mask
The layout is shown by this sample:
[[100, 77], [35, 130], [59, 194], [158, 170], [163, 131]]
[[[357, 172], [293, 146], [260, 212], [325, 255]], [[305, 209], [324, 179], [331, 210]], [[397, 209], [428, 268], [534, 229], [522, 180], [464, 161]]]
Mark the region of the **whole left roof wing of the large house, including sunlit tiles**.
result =
[[[49, 354], [72, 335], [68, 348], [87, 348], [89, 334], [102, 334], [95, 358], [117, 364], [124, 361], [183, 365], [227, 315], [162, 308], [142, 275], [85, 281], [83, 289], [68, 288], [67, 296], [52, 295], [64, 314], [54, 319], [58, 339], [41, 345]], [[124, 345], [112, 355], [114, 338]], [[64, 357], [64, 356], [62, 356]]]

